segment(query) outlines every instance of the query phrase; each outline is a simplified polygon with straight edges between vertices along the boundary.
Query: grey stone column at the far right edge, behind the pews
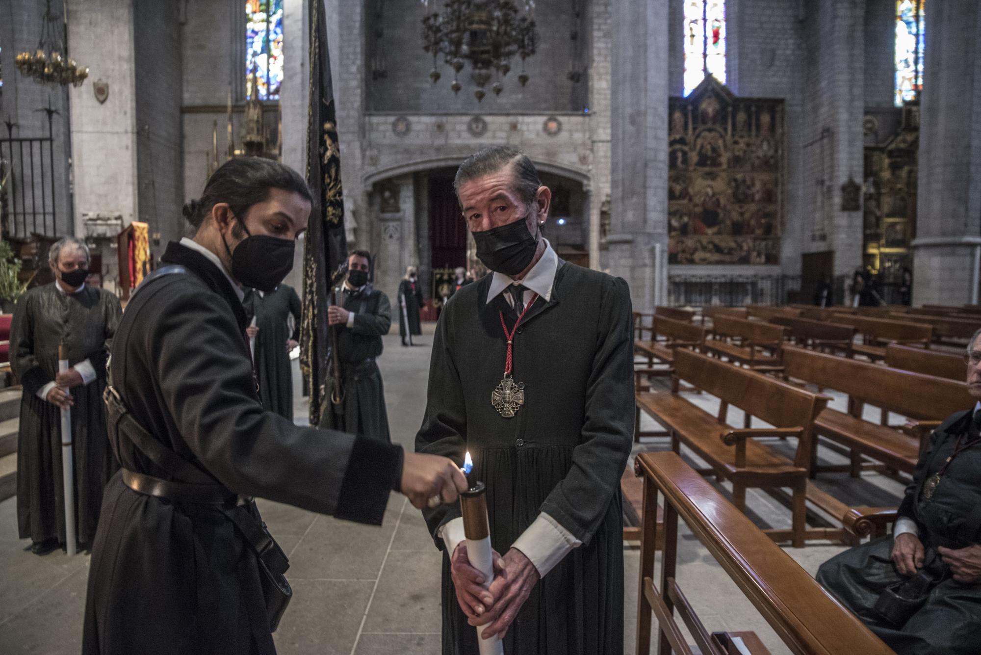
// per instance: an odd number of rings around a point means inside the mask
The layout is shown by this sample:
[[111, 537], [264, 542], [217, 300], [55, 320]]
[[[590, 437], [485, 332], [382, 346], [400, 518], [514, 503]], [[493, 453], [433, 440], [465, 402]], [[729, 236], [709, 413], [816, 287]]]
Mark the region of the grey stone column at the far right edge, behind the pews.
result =
[[913, 303], [977, 303], [981, 257], [981, 4], [926, 5]]

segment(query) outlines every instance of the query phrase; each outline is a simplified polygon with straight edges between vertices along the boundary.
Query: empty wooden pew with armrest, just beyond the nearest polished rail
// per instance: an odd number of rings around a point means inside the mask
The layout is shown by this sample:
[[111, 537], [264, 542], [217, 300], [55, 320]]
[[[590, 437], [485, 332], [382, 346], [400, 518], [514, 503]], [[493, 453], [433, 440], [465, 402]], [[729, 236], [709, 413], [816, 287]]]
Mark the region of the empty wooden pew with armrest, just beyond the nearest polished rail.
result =
[[[748, 487], [790, 487], [793, 529], [767, 530], [775, 540], [791, 539], [800, 548], [805, 538], [828, 538], [827, 530], [807, 530], [804, 516], [812, 424], [828, 398], [691, 350], [676, 350], [674, 365], [671, 391], [637, 394], [637, 425], [643, 409], [668, 430], [672, 450], [679, 452], [684, 443], [708, 462], [704, 473], [731, 479], [733, 503], [740, 509], [746, 508]], [[716, 396], [721, 401], [718, 416], [679, 395], [681, 380]], [[726, 423], [730, 405], [746, 413], [744, 428]], [[750, 417], [773, 428], [750, 428]], [[755, 440], [763, 436], [797, 437], [794, 460]]]

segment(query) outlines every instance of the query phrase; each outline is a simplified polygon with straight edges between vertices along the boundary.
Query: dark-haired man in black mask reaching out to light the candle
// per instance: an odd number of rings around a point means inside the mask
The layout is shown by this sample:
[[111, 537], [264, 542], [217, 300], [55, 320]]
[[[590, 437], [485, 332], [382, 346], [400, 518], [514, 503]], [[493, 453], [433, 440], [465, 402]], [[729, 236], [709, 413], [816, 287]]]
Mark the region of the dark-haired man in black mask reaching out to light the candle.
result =
[[[284, 165], [230, 160], [184, 207], [194, 238], [172, 242], [129, 300], [110, 381], [131, 421], [110, 430], [123, 471], [92, 548], [82, 655], [273, 655], [264, 539], [230, 518], [248, 514], [261, 536], [253, 496], [378, 525], [392, 489], [422, 507], [465, 488], [445, 458], [263, 410], [240, 285], [283, 281], [311, 205]], [[261, 545], [264, 562], [276, 554]]]

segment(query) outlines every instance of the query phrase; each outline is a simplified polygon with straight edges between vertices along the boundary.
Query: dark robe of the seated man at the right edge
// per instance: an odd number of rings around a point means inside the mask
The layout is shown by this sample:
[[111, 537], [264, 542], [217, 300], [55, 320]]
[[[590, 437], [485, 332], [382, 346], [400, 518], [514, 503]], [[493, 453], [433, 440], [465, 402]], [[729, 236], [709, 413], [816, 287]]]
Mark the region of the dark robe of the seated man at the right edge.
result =
[[[920, 492], [923, 482], [954, 452], [957, 436], [967, 430], [970, 418], [971, 412], [958, 412], [934, 430], [898, 513], [916, 522], [926, 551], [924, 566], [935, 579], [946, 569], [936, 557], [937, 546], [981, 543], [976, 526], [967, 533], [971, 514], [981, 507], [981, 446], [964, 450], [951, 462], [933, 498], [927, 500]], [[883, 590], [906, 579], [893, 564], [892, 549], [892, 535], [850, 548], [821, 565], [817, 580], [899, 655], [977, 655], [981, 583], [962, 584], [948, 574], [902, 629], [890, 626], [873, 610]]]

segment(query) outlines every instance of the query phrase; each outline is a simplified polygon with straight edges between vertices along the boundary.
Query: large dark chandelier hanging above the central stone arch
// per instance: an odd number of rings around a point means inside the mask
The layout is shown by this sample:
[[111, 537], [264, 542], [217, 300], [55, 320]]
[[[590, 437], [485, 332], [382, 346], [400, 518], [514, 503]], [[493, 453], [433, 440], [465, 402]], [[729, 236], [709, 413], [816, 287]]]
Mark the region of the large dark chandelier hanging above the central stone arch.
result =
[[453, 69], [450, 88], [459, 93], [459, 73], [470, 63], [471, 77], [477, 84], [474, 95], [480, 102], [487, 95], [485, 87], [494, 79], [490, 89], [494, 95], [504, 90], [501, 77], [511, 70], [511, 58], [521, 57], [518, 81], [524, 86], [529, 79], [525, 60], [535, 54], [539, 34], [535, 28], [534, 0], [525, 0], [524, 11], [513, 0], [445, 0], [442, 13], [429, 12], [430, 0], [423, 19], [423, 50], [433, 54], [430, 79], [439, 81], [439, 57]]

